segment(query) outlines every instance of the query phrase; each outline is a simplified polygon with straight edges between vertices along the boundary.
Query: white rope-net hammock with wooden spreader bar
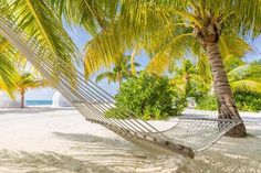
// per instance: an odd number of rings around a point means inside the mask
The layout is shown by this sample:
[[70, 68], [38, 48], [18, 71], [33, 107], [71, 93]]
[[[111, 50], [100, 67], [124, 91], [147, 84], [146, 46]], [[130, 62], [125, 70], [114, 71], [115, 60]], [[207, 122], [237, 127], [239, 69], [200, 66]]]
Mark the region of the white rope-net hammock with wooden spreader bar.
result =
[[[127, 119], [106, 118], [105, 112], [115, 107], [115, 100], [104, 89], [92, 80], [86, 80], [81, 72], [76, 73], [76, 86], [72, 85], [62, 73], [56, 79], [53, 73], [56, 64], [51, 61], [56, 55], [1, 14], [0, 34], [17, 47], [46, 79], [50, 79], [86, 120], [100, 123], [127, 140], [194, 158], [195, 151], [207, 149], [231, 128], [242, 122], [237, 119], [218, 119], [217, 115], [212, 117], [195, 115], [190, 111], [185, 112], [173, 128], [159, 131], [149, 122], [138, 119], [128, 109], [116, 112], [117, 116], [127, 116]], [[61, 61], [59, 63], [63, 63]], [[67, 71], [65, 63], [64, 68], [60, 71]]]

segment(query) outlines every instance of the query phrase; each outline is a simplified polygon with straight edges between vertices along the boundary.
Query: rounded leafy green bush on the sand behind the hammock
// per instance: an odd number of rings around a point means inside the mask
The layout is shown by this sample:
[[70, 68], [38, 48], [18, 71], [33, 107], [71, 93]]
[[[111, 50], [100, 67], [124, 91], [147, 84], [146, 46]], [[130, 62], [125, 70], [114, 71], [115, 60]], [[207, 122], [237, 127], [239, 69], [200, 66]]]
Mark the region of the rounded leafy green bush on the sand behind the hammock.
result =
[[127, 115], [119, 117], [119, 112], [128, 108], [145, 120], [166, 119], [177, 116], [185, 108], [185, 99], [178, 97], [167, 77], [145, 72], [123, 83], [115, 99], [116, 107], [106, 113], [113, 118], [127, 118]]

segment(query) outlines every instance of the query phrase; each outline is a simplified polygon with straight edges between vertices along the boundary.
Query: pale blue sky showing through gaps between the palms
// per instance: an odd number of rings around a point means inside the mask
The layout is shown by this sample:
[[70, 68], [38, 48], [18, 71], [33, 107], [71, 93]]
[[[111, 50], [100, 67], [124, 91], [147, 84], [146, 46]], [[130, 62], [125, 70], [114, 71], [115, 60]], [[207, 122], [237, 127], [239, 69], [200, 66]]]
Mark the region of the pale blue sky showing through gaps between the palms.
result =
[[[69, 28], [65, 25], [65, 30], [67, 31], [69, 35], [72, 37], [72, 40], [81, 51], [84, 50], [84, 45], [92, 39], [82, 28], [79, 26]], [[244, 60], [248, 62], [254, 60], [261, 60], [261, 35], [253, 41], [248, 40], [248, 42], [252, 46], [253, 51], [251, 53], [248, 53]], [[146, 66], [148, 63], [148, 57], [144, 52], [137, 55], [135, 60], [142, 65], [142, 67]], [[115, 95], [118, 88], [117, 84], [111, 83], [108, 85], [106, 80], [98, 83], [98, 86], [104, 88], [111, 95]], [[31, 89], [25, 94], [25, 99], [51, 100], [54, 93], [55, 90], [52, 88]]]

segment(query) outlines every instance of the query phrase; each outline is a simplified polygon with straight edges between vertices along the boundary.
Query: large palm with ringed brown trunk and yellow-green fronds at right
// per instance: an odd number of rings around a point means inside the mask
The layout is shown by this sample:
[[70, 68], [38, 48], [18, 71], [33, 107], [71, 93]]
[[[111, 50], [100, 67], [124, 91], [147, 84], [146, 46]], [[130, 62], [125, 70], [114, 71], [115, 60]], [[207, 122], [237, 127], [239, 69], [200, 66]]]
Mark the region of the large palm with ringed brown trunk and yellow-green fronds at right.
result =
[[[161, 62], [157, 66], [163, 68], [170, 64], [173, 57], [184, 56], [187, 50], [197, 50], [190, 47], [199, 47], [197, 51], [207, 55], [211, 67], [215, 91], [220, 102], [219, 118], [240, 119], [220, 50], [226, 36], [238, 36], [238, 33], [254, 36], [260, 32], [260, 0], [252, 0], [251, 3], [248, 0], [129, 0], [118, 3], [111, 28], [102, 30], [93, 45], [88, 45], [87, 63], [106, 64], [109, 60], [106, 57], [117, 54], [117, 50], [125, 51], [142, 40], [146, 46], [149, 43], [158, 45], [153, 62]], [[101, 51], [94, 56], [91, 50], [97, 47]], [[98, 61], [97, 64], [97, 57], [106, 61]], [[244, 137], [244, 125], [238, 125], [228, 134]]]

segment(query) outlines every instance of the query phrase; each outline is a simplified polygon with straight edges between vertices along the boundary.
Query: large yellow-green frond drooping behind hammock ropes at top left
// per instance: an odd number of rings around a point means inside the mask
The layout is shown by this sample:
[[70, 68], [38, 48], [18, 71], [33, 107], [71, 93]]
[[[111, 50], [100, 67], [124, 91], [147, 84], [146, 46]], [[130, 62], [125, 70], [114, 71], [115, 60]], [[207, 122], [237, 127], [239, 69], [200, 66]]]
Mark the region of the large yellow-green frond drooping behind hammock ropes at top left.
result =
[[[50, 1], [1, 0], [0, 13], [22, 29], [29, 35], [29, 42], [36, 40], [50, 48], [53, 74], [74, 78], [77, 51]], [[64, 66], [72, 71], [62, 71]]]

